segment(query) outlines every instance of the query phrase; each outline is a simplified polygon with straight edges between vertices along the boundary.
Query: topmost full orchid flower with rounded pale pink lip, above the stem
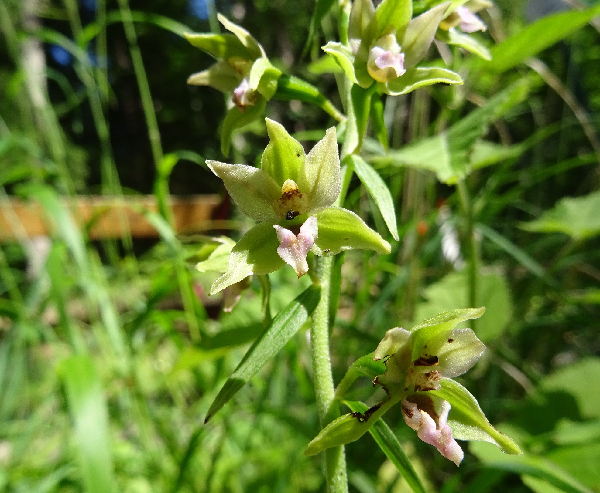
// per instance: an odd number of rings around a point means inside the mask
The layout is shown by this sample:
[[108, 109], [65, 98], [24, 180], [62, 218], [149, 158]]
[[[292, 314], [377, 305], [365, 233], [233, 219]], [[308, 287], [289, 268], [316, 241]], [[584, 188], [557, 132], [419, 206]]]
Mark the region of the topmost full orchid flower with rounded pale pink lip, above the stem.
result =
[[462, 84], [451, 70], [417, 66], [449, 5], [436, 5], [412, 19], [411, 0], [383, 0], [377, 9], [371, 0], [355, 0], [348, 46], [330, 41], [323, 50], [363, 89], [377, 83], [381, 92], [400, 95], [435, 83]]

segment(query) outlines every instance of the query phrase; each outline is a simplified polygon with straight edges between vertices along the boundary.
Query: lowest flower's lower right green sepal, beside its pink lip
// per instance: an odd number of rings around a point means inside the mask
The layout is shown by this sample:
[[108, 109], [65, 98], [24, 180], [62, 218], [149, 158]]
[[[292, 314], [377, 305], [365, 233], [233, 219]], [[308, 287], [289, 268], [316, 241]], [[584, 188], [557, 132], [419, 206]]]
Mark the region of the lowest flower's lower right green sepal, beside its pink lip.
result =
[[429, 392], [448, 401], [452, 406], [448, 415], [448, 425], [452, 436], [457, 440], [489, 441], [507, 454], [523, 453], [511, 437], [490, 425], [475, 397], [460, 383], [443, 378], [440, 390]]

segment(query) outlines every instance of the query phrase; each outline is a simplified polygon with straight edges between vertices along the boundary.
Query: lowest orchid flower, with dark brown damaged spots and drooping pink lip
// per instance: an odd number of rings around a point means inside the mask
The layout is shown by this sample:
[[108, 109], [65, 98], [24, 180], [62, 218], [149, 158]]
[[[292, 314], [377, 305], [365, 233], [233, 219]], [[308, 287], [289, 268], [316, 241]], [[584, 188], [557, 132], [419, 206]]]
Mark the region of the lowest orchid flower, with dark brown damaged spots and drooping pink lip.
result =
[[304, 453], [314, 455], [358, 439], [397, 403], [417, 436], [457, 465], [463, 460], [463, 450], [456, 440], [485, 440], [506, 453], [521, 453], [510, 437], [490, 425], [470, 392], [452, 380], [472, 368], [485, 351], [475, 332], [455, 327], [481, 317], [484, 311], [446, 311], [410, 331], [399, 327], [387, 331], [373, 353], [375, 361], [385, 361], [386, 371], [375, 377], [373, 385], [382, 386], [388, 400], [364, 414], [349, 413], [331, 422]]

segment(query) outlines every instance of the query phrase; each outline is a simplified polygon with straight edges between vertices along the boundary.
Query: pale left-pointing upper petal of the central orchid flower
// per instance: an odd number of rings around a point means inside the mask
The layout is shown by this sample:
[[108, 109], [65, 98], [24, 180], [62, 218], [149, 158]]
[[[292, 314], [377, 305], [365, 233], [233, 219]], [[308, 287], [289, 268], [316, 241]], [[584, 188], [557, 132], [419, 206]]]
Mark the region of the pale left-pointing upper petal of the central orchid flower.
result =
[[281, 188], [263, 170], [245, 164], [206, 161], [238, 204], [243, 214], [256, 221], [279, 219], [272, 204], [281, 196]]

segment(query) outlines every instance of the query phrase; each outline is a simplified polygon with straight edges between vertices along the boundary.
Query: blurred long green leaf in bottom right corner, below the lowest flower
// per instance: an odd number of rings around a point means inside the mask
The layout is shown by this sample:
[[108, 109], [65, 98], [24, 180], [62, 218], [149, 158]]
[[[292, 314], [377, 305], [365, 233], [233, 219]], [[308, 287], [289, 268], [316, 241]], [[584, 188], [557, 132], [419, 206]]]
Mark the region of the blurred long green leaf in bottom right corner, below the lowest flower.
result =
[[487, 443], [471, 443], [469, 449], [487, 467], [517, 474], [529, 474], [546, 480], [566, 493], [592, 493], [592, 490], [546, 458], [529, 454], [506, 455]]

